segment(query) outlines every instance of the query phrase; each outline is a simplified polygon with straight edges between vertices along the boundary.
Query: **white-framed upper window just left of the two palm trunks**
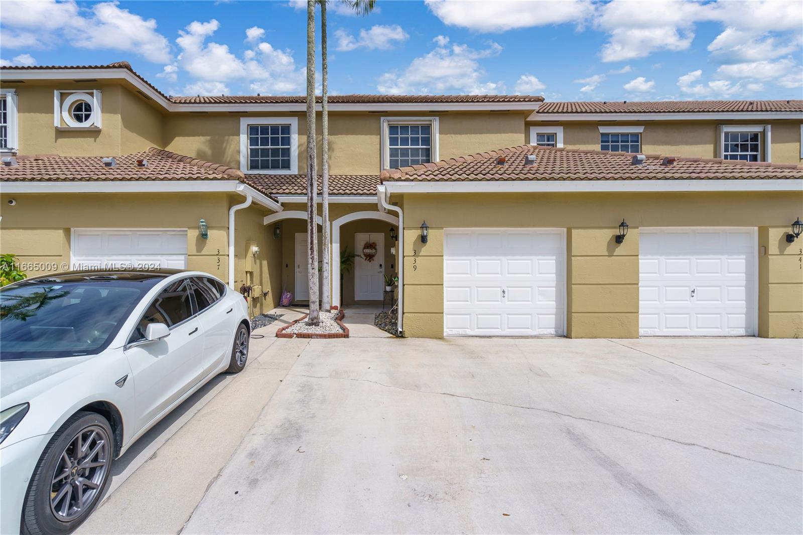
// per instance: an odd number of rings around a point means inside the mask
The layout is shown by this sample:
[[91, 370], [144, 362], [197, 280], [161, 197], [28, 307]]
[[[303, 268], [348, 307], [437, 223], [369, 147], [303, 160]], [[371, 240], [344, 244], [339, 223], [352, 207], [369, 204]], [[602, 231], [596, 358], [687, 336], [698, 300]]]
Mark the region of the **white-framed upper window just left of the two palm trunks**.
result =
[[251, 174], [298, 174], [298, 117], [240, 118], [240, 170]]

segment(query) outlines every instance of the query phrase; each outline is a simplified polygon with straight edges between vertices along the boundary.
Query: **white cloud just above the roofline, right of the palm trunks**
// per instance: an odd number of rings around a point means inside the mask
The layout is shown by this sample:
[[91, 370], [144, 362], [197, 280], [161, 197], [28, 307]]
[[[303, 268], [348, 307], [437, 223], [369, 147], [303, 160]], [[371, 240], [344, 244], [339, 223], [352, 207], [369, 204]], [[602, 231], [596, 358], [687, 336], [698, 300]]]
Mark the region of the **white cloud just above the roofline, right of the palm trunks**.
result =
[[394, 95], [404, 93], [463, 92], [471, 94], [504, 92], [502, 82], [484, 82], [485, 72], [479, 59], [490, 58], [502, 51], [497, 43], [488, 43], [484, 50], [467, 45], [451, 44], [438, 36], [433, 51], [422, 55], [403, 71], [386, 72], [379, 79], [377, 89]]

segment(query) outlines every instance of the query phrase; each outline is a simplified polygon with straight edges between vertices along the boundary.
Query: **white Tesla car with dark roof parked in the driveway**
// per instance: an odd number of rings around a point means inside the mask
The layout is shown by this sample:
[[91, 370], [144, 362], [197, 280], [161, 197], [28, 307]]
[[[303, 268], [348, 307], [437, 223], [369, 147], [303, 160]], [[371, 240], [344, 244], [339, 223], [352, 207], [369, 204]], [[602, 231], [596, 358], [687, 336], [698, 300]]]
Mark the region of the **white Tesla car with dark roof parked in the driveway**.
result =
[[70, 272], [0, 291], [0, 533], [69, 533], [124, 453], [243, 370], [243, 296], [201, 272]]

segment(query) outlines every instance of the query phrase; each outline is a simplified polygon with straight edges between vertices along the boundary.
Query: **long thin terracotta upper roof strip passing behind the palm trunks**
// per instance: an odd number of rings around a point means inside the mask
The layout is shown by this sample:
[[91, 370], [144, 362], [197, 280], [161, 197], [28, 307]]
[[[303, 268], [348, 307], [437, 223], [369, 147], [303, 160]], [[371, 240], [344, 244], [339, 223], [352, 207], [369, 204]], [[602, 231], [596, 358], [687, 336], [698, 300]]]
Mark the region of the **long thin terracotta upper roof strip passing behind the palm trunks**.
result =
[[[173, 96], [176, 104], [303, 104], [306, 96]], [[329, 104], [443, 104], [543, 102], [543, 96], [528, 95], [330, 95]], [[321, 97], [316, 97], [320, 102]]]

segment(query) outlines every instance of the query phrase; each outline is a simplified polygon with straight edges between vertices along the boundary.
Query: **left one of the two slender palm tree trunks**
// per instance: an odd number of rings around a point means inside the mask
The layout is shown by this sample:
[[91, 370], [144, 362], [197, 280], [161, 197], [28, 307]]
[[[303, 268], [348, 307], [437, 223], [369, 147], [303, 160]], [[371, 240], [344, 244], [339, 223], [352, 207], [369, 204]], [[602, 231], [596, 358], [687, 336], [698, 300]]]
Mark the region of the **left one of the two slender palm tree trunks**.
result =
[[309, 284], [308, 325], [320, 323], [318, 308], [318, 226], [316, 222], [315, 154], [315, 0], [307, 0], [307, 265]]

